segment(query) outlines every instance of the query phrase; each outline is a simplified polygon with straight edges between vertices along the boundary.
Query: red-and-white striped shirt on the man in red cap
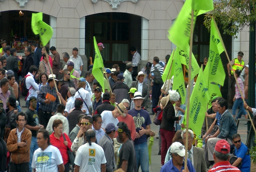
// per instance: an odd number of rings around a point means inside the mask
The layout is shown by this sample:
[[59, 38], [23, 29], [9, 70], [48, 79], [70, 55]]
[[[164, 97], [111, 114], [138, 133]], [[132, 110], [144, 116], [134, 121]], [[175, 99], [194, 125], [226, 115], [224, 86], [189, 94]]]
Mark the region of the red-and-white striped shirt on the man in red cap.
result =
[[218, 162], [208, 172], [241, 172], [237, 167], [231, 166], [229, 161]]

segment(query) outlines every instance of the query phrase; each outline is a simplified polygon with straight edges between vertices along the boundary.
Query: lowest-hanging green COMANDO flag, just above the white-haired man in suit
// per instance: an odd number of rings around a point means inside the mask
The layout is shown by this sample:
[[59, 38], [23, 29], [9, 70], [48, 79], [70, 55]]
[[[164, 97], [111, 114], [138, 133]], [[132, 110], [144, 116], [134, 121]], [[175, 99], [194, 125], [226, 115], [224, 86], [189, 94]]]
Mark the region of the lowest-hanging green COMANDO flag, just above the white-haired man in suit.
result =
[[[204, 80], [203, 70], [199, 71], [196, 84], [190, 97], [190, 109], [189, 109], [189, 127], [198, 136], [201, 133], [201, 128], [204, 121], [205, 112], [207, 111], [207, 103], [209, 101], [209, 91], [206, 81]], [[183, 120], [183, 124], [186, 125], [186, 113]]]

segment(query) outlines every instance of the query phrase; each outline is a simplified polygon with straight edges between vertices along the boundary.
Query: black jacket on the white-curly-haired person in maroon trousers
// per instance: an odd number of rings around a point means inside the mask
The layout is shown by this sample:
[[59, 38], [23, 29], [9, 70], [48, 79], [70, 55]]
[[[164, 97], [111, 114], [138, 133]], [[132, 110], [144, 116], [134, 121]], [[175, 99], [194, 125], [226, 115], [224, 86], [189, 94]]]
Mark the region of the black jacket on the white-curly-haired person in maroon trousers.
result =
[[178, 121], [178, 117], [175, 117], [174, 106], [171, 102], [168, 102], [162, 113], [162, 123], [160, 128], [168, 131], [174, 130], [174, 122]]

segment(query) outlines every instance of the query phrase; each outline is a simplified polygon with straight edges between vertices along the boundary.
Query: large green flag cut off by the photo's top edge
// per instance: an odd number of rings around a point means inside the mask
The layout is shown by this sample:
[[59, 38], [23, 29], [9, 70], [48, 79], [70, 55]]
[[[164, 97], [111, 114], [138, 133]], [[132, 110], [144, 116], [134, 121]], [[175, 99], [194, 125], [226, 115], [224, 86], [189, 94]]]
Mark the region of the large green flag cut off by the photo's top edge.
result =
[[213, 10], [212, 0], [186, 0], [172, 27], [169, 29], [168, 38], [181, 49], [186, 48], [190, 40], [192, 1], [194, 10], [194, 23], [196, 16]]

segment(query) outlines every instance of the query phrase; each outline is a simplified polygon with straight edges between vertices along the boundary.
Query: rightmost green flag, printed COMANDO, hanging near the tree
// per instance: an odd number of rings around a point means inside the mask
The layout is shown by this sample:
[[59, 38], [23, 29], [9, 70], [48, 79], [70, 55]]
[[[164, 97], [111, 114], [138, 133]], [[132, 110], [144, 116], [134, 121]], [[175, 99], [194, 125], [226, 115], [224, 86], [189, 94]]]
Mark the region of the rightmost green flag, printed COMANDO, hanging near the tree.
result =
[[220, 54], [224, 51], [221, 39], [218, 35], [218, 28], [215, 27], [214, 21], [212, 19], [211, 31], [210, 31], [210, 52], [209, 52], [209, 82], [217, 82], [220, 85], [224, 85], [224, 80], [226, 77], [225, 70], [223, 68], [222, 60]]

